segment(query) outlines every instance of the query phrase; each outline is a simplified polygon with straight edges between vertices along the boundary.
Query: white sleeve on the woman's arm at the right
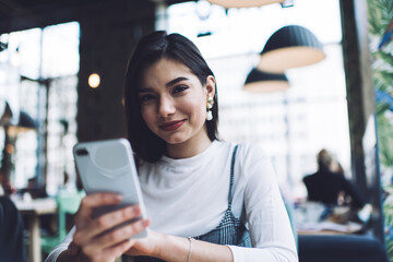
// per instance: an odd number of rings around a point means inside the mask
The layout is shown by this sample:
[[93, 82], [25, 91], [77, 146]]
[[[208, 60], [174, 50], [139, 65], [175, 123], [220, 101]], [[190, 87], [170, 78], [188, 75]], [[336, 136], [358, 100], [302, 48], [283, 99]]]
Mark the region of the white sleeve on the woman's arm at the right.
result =
[[295, 262], [297, 250], [288, 214], [270, 159], [255, 146], [239, 152], [245, 210], [252, 248], [229, 246], [235, 262]]

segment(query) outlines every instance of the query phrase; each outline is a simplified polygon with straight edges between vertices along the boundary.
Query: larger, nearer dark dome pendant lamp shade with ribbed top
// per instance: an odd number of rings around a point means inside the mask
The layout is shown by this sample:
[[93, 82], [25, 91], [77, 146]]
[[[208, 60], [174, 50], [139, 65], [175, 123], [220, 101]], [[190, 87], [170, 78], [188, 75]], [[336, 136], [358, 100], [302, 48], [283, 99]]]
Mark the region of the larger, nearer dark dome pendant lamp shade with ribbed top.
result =
[[287, 25], [267, 39], [258, 69], [283, 73], [290, 68], [317, 63], [325, 57], [322, 44], [309, 29], [299, 25]]

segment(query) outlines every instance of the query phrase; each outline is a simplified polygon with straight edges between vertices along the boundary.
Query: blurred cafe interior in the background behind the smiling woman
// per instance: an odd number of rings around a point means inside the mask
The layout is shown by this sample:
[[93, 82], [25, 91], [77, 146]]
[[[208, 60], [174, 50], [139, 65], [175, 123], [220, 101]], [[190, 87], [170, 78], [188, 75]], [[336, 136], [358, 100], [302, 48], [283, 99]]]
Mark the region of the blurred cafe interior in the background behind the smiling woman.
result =
[[[73, 226], [73, 146], [127, 136], [127, 62], [157, 29], [191, 39], [215, 73], [221, 139], [272, 159], [300, 262], [393, 261], [392, 17], [390, 0], [0, 0], [1, 194], [25, 261]], [[310, 198], [322, 150], [356, 211]]]

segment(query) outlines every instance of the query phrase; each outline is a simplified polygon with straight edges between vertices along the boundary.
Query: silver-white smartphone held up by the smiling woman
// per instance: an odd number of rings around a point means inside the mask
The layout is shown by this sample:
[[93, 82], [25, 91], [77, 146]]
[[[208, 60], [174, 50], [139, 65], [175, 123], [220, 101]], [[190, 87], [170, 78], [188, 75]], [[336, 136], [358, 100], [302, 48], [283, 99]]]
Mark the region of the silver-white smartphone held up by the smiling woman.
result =
[[[76, 170], [87, 194], [114, 192], [122, 195], [122, 201], [116, 205], [96, 207], [93, 217], [128, 205], [139, 204], [145, 218], [141, 186], [138, 179], [135, 162], [130, 142], [126, 139], [114, 139], [78, 143], [73, 147]], [[136, 219], [129, 221], [133, 223]], [[123, 226], [123, 224], [119, 225]], [[133, 236], [142, 238], [146, 230]]]

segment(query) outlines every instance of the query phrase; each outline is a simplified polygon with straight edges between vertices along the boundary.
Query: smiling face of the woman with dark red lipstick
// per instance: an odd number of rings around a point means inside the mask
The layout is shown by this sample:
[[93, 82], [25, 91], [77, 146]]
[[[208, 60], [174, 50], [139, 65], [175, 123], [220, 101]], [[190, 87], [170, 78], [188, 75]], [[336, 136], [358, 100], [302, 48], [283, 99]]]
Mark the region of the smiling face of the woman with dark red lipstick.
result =
[[199, 143], [207, 138], [206, 99], [214, 95], [214, 86], [212, 75], [202, 86], [187, 66], [160, 59], [142, 75], [139, 90], [142, 118], [167, 144]]

